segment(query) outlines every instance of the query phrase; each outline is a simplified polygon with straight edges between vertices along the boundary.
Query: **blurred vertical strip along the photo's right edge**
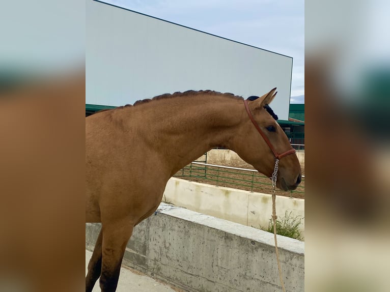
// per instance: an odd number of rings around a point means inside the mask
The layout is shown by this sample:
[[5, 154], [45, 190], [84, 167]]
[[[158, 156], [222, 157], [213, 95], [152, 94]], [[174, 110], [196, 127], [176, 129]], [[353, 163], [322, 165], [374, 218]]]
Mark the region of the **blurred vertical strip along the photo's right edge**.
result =
[[388, 290], [389, 9], [305, 2], [308, 291]]

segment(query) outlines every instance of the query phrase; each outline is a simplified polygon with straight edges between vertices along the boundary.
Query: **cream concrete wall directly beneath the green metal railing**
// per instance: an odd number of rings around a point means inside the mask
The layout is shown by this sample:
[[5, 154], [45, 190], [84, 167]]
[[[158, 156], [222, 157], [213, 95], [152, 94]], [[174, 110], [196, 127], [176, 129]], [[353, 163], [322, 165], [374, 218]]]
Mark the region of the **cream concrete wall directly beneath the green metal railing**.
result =
[[[175, 206], [256, 228], [260, 225], [268, 226], [272, 215], [272, 199], [269, 194], [177, 178], [171, 178], [166, 184], [163, 200]], [[283, 217], [286, 210], [291, 211], [292, 216], [304, 217], [304, 199], [276, 196], [276, 214]], [[300, 230], [303, 234], [304, 219]]]

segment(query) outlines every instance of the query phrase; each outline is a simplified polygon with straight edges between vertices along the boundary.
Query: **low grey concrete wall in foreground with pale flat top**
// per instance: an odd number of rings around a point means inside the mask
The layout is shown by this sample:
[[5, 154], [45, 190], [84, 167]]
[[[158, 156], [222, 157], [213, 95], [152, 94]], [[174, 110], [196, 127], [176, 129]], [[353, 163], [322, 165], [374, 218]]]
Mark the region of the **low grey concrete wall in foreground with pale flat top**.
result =
[[[134, 228], [124, 264], [199, 292], [281, 291], [273, 235], [161, 203]], [[91, 249], [100, 229], [86, 224]], [[304, 243], [278, 236], [287, 291], [304, 290]], [[120, 280], [120, 279], [119, 279]]]

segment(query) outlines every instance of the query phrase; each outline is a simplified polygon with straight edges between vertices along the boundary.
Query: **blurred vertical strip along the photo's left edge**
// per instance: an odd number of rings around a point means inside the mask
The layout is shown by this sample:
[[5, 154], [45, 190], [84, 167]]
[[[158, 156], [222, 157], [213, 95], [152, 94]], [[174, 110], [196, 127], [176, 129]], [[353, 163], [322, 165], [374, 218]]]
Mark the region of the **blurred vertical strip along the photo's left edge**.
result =
[[85, 3], [0, 9], [0, 291], [85, 286]]

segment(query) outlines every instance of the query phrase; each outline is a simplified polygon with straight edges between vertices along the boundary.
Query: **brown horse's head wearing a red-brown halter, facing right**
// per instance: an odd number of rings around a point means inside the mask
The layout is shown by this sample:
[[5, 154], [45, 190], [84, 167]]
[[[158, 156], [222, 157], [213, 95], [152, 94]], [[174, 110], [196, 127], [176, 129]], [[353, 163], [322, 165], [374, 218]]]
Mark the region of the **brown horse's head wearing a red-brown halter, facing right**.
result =
[[277, 116], [268, 106], [276, 95], [275, 91], [276, 88], [262, 97], [244, 101], [245, 118], [235, 137], [234, 150], [268, 177], [271, 177], [278, 157], [276, 186], [288, 191], [296, 189], [300, 183], [301, 169], [289, 139], [276, 122]]

